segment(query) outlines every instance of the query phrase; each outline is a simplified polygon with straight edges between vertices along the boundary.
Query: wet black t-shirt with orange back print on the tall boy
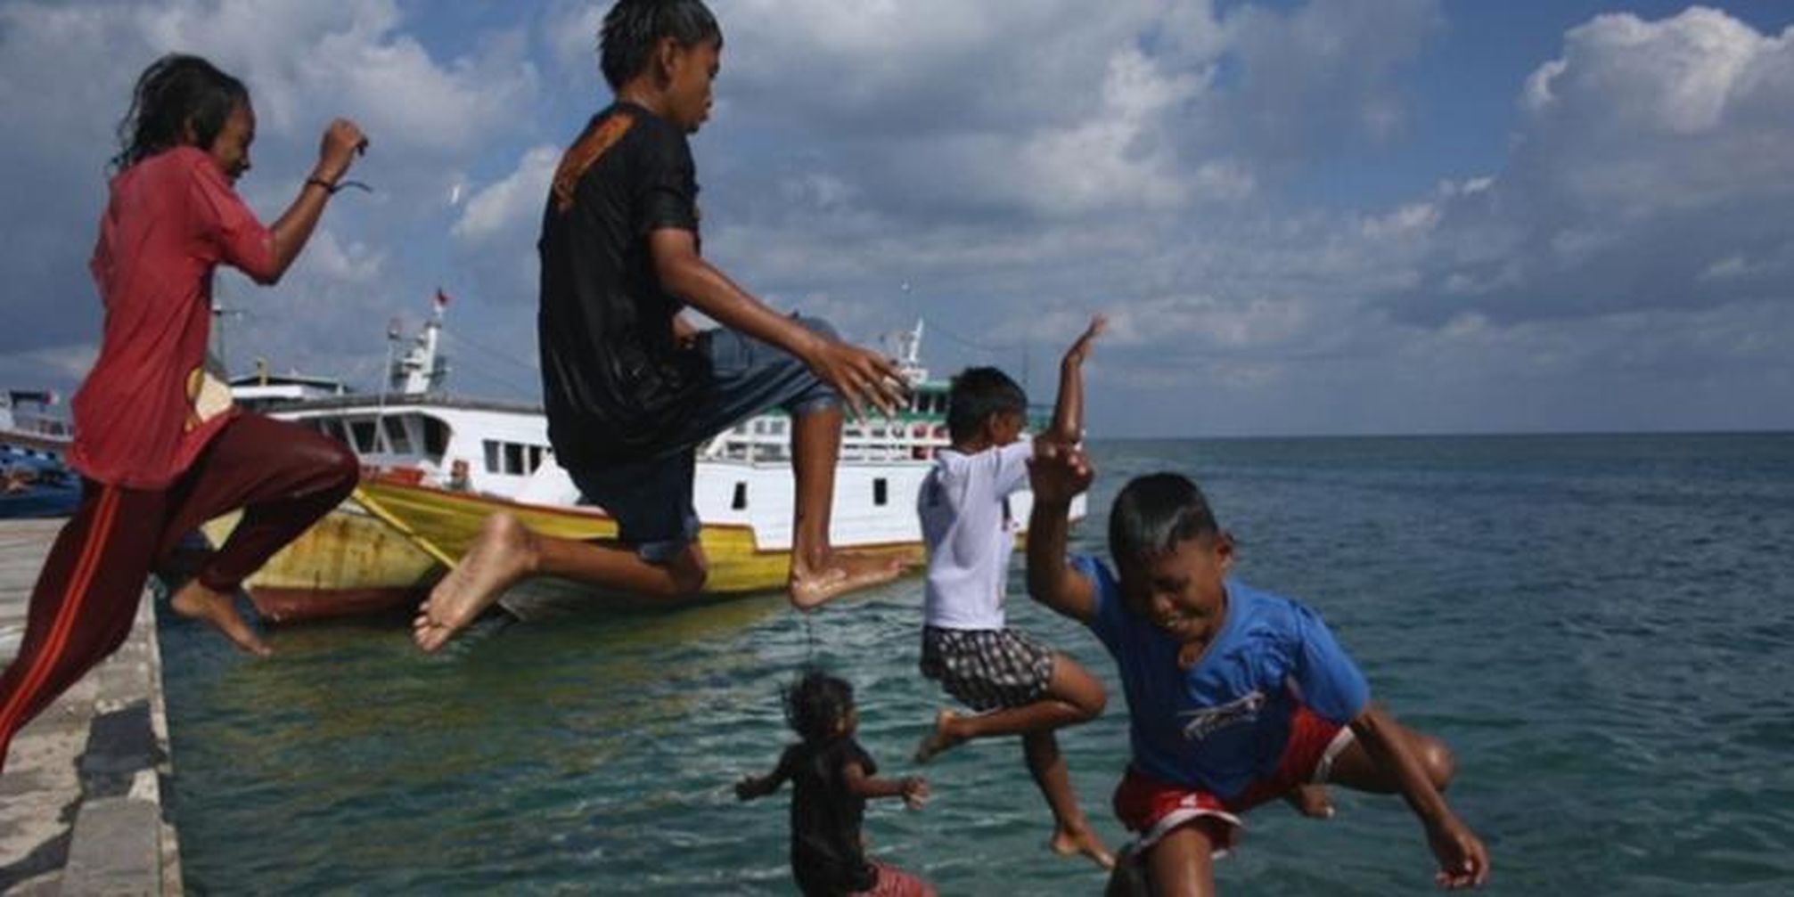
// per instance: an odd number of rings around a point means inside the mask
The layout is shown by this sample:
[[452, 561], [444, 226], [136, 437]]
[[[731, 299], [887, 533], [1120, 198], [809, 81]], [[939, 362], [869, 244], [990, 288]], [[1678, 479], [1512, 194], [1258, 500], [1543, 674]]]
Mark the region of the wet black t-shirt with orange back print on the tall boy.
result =
[[648, 235], [698, 231], [685, 133], [619, 102], [562, 156], [542, 213], [542, 391], [563, 466], [655, 457], [709, 379], [673, 339], [682, 303], [655, 278]]

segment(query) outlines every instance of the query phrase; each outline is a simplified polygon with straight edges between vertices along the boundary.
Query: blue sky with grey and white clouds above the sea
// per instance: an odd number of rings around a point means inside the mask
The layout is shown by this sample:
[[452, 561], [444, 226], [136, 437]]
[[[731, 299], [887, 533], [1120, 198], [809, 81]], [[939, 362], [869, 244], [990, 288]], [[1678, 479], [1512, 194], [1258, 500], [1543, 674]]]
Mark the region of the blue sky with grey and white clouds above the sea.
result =
[[[371, 388], [450, 296], [450, 388], [538, 400], [549, 172], [608, 100], [570, 0], [0, 0], [0, 386], [74, 391], [131, 84], [210, 57], [291, 203], [371, 145], [233, 371]], [[1093, 436], [1794, 429], [1794, 4], [716, 0], [703, 251], [762, 301]]]

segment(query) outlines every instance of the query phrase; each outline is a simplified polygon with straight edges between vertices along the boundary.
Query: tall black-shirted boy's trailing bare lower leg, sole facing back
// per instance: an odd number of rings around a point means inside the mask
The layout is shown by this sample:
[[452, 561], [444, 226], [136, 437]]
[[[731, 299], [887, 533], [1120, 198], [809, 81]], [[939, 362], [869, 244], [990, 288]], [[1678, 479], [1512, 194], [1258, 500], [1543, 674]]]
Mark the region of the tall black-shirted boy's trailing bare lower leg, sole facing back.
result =
[[515, 517], [495, 513], [481, 526], [461, 563], [418, 608], [411, 639], [425, 651], [441, 648], [527, 576], [565, 576], [623, 592], [685, 597], [703, 588], [705, 572], [703, 549], [696, 542], [658, 565], [626, 547], [536, 535]]

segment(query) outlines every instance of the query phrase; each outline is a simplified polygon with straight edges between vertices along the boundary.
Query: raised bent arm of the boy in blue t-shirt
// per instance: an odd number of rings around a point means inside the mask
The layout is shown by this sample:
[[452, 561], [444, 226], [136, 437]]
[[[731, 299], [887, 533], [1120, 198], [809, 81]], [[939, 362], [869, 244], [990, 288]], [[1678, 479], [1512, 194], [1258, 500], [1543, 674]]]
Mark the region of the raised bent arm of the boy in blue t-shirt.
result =
[[1028, 463], [1028, 596], [1078, 621], [1096, 619], [1096, 588], [1066, 562], [1071, 499], [1091, 488], [1096, 470], [1078, 448], [1037, 440]]

